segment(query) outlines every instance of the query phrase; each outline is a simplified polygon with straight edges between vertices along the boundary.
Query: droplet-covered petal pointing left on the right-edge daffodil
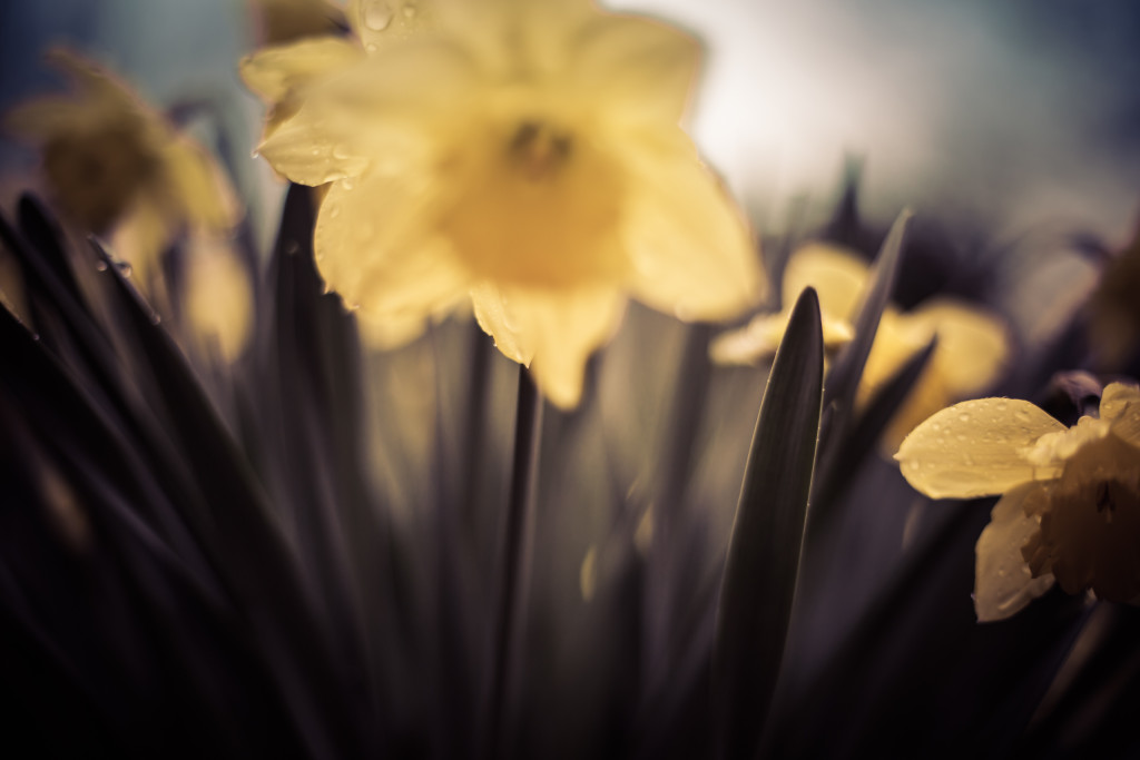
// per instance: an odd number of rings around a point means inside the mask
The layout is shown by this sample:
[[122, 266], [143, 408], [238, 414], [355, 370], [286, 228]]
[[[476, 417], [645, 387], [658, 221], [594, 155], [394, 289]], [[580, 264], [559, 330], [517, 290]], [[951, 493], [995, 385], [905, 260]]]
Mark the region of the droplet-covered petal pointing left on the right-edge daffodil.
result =
[[1065, 425], [1028, 401], [978, 399], [943, 409], [911, 431], [895, 458], [918, 491], [968, 499], [1004, 493], [1059, 471], [1034, 467], [1021, 453]]

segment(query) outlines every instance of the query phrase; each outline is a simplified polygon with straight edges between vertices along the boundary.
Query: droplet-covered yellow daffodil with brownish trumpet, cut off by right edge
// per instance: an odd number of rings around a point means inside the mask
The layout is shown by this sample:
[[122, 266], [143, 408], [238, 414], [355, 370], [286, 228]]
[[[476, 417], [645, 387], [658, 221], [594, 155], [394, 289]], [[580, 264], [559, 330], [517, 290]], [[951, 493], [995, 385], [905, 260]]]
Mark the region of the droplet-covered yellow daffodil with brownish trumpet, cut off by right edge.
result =
[[977, 545], [978, 619], [1001, 620], [1060, 583], [1068, 594], [1140, 597], [1140, 390], [1113, 383], [1100, 416], [1065, 425], [1027, 401], [943, 409], [896, 455], [922, 493], [1004, 495]]

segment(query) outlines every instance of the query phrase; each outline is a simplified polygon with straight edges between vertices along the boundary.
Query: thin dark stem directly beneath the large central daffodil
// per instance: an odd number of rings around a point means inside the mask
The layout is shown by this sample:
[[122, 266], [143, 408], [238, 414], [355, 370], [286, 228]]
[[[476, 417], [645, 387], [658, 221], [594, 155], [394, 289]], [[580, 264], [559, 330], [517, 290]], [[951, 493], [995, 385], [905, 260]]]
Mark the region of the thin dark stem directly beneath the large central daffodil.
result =
[[510, 755], [516, 693], [522, 671], [527, 597], [535, 544], [535, 496], [538, 475], [543, 401], [526, 367], [519, 367], [511, 492], [503, 522], [498, 599], [491, 638], [487, 758]]

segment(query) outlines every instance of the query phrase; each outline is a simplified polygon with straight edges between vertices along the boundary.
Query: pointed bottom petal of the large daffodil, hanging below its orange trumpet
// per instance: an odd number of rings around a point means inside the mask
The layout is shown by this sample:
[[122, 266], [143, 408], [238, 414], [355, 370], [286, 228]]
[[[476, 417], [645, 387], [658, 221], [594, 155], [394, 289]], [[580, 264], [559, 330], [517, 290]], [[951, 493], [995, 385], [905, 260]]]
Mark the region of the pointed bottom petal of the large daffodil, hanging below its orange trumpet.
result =
[[617, 328], [625, 299], [608, 287], [514, 288], [498, 296], [491, 310], [481, 299], [475, 301], [480, 326], [495, 330], [496, 345], [508, 358], [531, 358], [535, 383], [552, 403], [577, 406], [586, 361]]

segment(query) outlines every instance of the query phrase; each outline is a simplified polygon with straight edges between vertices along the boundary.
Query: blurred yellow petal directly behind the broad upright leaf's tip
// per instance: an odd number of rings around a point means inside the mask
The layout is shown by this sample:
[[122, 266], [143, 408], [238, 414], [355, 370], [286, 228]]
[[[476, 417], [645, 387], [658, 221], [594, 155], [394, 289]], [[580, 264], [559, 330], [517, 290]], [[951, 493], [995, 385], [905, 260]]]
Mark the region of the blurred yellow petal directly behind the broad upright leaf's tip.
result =
[[788, 259], [783, 273], [783, 305], [790, 309], [806, 287], [820, 296], [824, 317], [852, 321], [856, 316], [870, 268], [858, 254], [830, 243], [807, 243]]

